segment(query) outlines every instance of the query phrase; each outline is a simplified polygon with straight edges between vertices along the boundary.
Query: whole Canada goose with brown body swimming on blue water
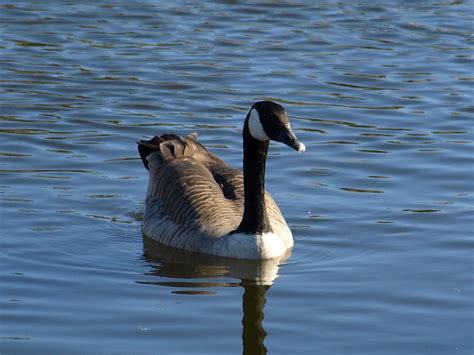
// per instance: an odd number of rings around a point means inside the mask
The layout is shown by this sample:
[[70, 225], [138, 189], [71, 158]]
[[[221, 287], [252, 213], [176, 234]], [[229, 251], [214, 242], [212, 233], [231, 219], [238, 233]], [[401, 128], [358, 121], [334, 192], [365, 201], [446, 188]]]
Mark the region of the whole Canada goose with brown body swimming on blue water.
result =
[[143, 233], [172, 247], [239, 259], [285, 254], [293, 236], [265, 191], [269, 140], [305, 150], [285, 109], [260, 101], [245, 118], [243, 174], [198, 143], [194, 133], [138, 142], [149, 169]]

